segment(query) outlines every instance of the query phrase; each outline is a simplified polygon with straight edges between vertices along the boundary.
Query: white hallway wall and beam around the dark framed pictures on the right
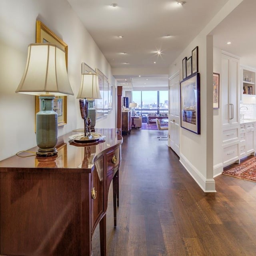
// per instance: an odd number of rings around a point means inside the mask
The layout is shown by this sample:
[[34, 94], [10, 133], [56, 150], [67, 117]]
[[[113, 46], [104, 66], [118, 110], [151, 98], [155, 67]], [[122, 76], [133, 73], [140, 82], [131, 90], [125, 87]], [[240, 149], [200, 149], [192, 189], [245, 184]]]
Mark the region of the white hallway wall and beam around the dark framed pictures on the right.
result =
[[[191, 51], [198, 46], [201, 134], [194, 134], [180, 128], [180, 162], [205, 192], [215, 191], [215, 181], [213, 179], [214, 115], [212, 108], [212, 72], [214, 59], [212, 36], [209, 36], [209, 34], [240, 2], [242, 0], [229, 0], [169, 68], [169, 76], [172, 76], [178, 70], [180, 71], [180, 76], [182, 76], [182, 59], [185, 56], [190, 57]], [[180, 80], [182, 80], [182, 77], [180, 77]], [[216, 148], [221, 150], [221, 144], [215, 145]], [[217, 162], [219, 161], [217, 160]]]

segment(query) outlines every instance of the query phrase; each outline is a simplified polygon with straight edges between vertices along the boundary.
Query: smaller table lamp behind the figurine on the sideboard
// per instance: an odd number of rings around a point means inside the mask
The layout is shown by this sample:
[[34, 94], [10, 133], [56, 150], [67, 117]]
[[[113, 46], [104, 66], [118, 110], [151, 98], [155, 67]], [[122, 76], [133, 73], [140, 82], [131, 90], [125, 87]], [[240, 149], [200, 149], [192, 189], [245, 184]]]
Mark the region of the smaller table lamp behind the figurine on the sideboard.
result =
[[96, 124], [96, 109], [94, 106], [95, 99], [101, 99], [99, 79], [98, 76], [92, 72], [82, 74], [81, 85], [76, 97], [77, 99], [84, 99], [84, 106], [88, 108], [88, 117], [91, 120], [91, 131], [95, 131]]

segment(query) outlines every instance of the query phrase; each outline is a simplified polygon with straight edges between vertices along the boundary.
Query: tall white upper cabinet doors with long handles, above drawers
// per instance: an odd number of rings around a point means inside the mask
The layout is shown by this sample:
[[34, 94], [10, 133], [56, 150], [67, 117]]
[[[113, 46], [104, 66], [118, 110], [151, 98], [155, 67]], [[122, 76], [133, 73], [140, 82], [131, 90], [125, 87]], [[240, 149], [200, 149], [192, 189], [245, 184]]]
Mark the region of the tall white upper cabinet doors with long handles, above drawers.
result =
[[239, 59], [222, 53], [222, 127], [239, 126]]

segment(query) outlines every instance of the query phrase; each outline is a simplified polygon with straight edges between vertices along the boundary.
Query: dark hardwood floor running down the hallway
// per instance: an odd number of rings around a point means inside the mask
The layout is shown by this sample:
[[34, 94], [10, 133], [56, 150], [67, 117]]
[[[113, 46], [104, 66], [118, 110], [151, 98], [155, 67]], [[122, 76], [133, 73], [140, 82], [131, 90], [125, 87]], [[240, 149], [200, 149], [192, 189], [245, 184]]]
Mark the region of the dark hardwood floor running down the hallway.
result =
[[[256, 183], [224, 174], [216, 193], [204, 193], [157, 136], [132, 130], [124, 137], [120, 205], [114, 228], [108, 196], [108, 256], [255, 256]], [[93, 256], [100, 255], [99, 231]]]

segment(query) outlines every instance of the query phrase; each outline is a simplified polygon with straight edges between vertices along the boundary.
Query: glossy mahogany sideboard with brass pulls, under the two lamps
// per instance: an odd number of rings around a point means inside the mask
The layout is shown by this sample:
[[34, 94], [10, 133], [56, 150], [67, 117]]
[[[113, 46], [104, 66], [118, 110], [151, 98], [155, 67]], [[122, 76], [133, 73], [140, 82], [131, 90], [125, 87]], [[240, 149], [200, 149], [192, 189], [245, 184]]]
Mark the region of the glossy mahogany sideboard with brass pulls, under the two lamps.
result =
[[90, 256], [98, 224], [106, 255], [108, 190], [113, 180], [116, 225], [122, 136], [116, 129], [96, 132], [104, 140], [75, 144], [71, 132], [58, 138], [55, 156], [0, 161], [0, 255]]

